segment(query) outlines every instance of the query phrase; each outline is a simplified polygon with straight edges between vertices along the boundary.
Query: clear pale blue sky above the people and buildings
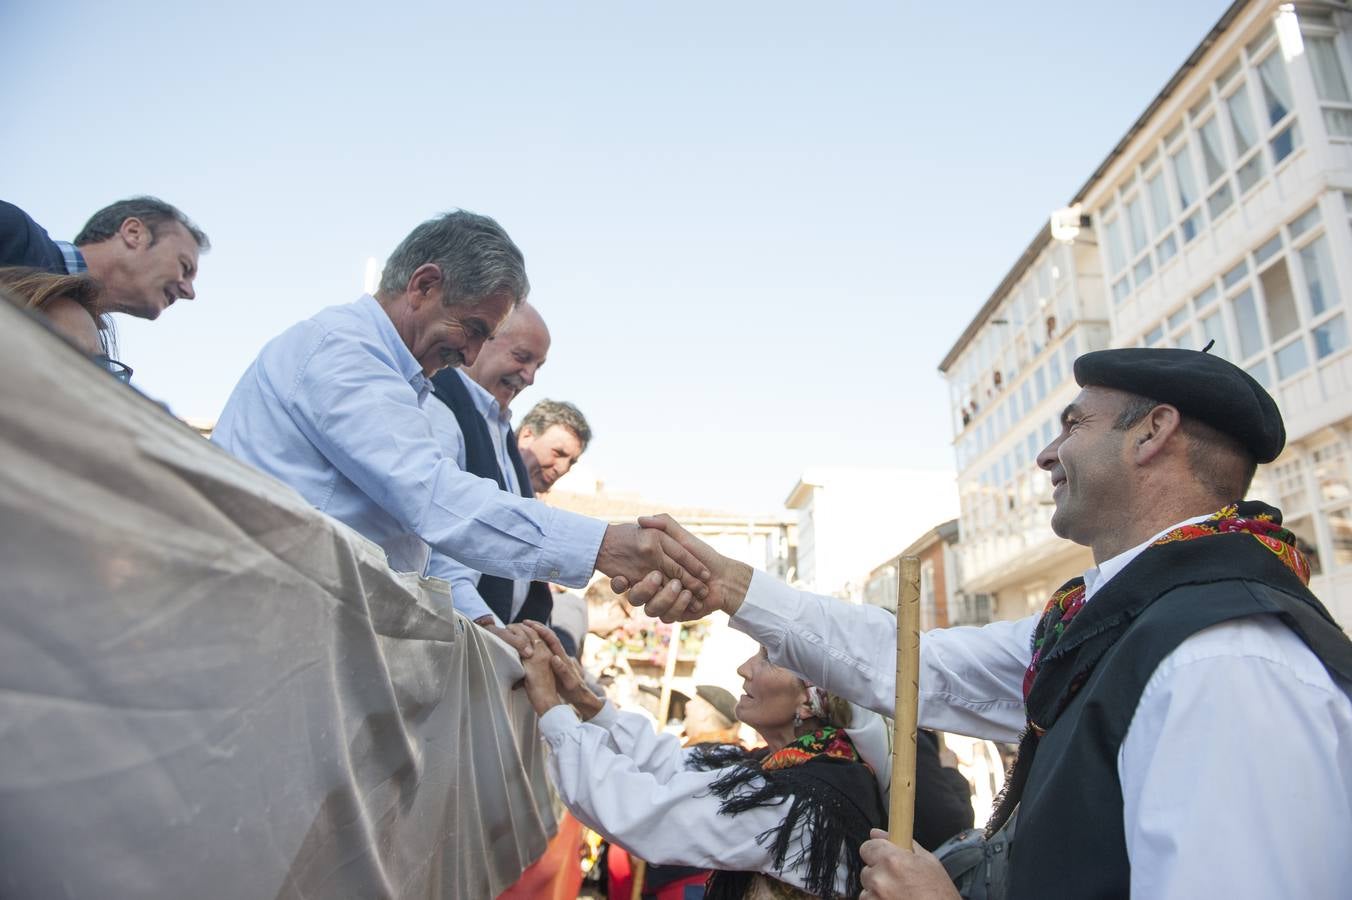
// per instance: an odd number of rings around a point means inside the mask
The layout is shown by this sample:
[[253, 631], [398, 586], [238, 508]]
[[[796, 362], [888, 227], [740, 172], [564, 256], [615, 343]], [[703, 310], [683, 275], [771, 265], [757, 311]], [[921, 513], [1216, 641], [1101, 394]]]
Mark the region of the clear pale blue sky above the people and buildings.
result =
[[118, 316], [201, 419], [368, 257], [491, 215], [553, 332], [518, 418], [576, 403], [610, 489], [772, 511], [814, 466], [952, 470], [940, 361], [1228, 5], [15, 0], [0, 197], [207, 231], [196, 300]]

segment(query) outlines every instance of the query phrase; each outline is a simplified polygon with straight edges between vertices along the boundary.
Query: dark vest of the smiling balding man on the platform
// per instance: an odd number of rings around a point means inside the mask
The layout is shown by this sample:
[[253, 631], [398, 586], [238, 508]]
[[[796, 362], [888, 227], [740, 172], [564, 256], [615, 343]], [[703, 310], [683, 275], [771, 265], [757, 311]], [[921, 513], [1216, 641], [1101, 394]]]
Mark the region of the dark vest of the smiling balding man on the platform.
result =
[[[469, 388], [465, 386], [454, 369], [442, 369], [433, 376], [431, 382], [437, 389], [435, 396], [450, 408], [456, 422], [460, 423], [460, 432], [465, 438], [465, 472], [480, 478], [492, 478], [498, 482], [499, 489], [506, 491], [507, 480], [498, 468], [498, 455], [493, 451], [492, 435], [488, 434], [488, 423], [484, 422], [483, 414], [475, 405], [475, 399], [469, 396]], [[521, 496], [534, 497], [535, 492], [530, 486], [526, 464], [516, 450], [516, 435], [511, 430], [507, 431], [507, 457], [511, 459], [512, 469], [516, 470]], [[479, 576], [479, 596], [503, 623], [521, 622], [522, 619], [549, 622], [549, 616], [554, 611], [554, 596], [548, 584], [544, 581], [530, 582], [526, 603], [522, 604], [516, 618], [511, 615], [511, 595], [512, 582], [510, 578], [491, 574]], [[454, 597], [452, 597], [452, 603], [454, 603]]]

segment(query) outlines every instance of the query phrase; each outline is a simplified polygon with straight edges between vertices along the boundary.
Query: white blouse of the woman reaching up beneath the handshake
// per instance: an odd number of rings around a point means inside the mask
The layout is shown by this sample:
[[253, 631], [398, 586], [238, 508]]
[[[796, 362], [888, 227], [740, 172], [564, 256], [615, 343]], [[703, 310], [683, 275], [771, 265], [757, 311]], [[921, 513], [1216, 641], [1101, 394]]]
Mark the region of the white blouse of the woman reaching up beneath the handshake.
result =
[[[635, 712], [610, 703], [589, 722], [572, 707], [539, 718], [549, 743], [549, 776], [564, 805], [584, 826], [648, 862], [731, 872], [761, 872], [796, 888], [800, 866], [776, 869], [757, 836], [783, 823], [779, 805], [722, 815], [710, 785], [723, 773], [691, 772], [692, 753], [675, 735], [657, 734]], [[756, 782], [752, 782], [756, 784]], [[791, 846], [790, 857], [796, 846]], [[836, 874], [845, 889], [846, 869]]]

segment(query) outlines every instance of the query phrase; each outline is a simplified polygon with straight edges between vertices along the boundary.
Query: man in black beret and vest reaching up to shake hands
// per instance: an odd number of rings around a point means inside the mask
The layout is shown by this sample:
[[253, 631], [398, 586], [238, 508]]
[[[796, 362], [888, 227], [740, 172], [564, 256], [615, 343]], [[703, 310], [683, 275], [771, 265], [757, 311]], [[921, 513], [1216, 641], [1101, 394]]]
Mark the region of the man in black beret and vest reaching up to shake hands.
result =
[[[1006, 896], [1347, 896], [1352, 643], [1282, 514], [1242, 500], [1286, 442], [1276, 404], [1192, 350], [1090, 353], [1075, 378], [1037, 465], [1052, 528], [1096, 565], [1040, 615], [921, 641], [919, 724], [1019, 741], [990, 823], [1015, 827]], [[721, 608], [776, 665], [891, 709], [886, 612], [787, 588], [669, 519], [644, 524], [714, 573], [698, 605], [635, 585], [649, 615]], [[869, 900], [959, 896], [919, 849], [863, 853]]]

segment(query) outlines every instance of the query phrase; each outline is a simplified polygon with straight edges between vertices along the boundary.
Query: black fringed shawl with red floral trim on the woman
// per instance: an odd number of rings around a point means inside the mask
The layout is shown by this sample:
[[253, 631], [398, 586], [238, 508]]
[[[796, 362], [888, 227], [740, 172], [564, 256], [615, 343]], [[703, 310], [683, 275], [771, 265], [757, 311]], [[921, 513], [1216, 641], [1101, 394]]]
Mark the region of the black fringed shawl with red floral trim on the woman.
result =
[[[718, 811], [734, 816], [760, 807], [783, 807], [783, 822], [757, 842], [773, 853], [776, 869], [802, 868], [810, 893], [833, 899], [836, 873], [846, 866], [845, 896], [859, 896], [864, 864], [859, 847], [869, 828], [886, 828], [887, 812], [872, 769], [844, 731], [826, 727], [806, 734], [783, 750], [746, 751], [727, 745], [698, 747], [690, 766], [726, 769], [710, 791], [723, 803]], [[741, 900], [754, 872], [714, 872], [706, 900]]]

